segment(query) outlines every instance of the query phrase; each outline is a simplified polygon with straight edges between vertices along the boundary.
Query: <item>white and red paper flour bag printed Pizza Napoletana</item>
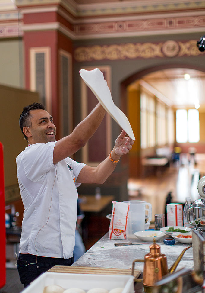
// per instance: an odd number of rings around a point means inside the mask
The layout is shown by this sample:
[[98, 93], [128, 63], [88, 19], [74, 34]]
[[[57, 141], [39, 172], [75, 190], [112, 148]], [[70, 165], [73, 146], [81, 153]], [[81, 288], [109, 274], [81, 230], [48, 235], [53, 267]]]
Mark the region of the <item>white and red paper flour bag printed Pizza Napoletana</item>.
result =
[[125, 239], [130, 203], [112, 201], [109, 239]]

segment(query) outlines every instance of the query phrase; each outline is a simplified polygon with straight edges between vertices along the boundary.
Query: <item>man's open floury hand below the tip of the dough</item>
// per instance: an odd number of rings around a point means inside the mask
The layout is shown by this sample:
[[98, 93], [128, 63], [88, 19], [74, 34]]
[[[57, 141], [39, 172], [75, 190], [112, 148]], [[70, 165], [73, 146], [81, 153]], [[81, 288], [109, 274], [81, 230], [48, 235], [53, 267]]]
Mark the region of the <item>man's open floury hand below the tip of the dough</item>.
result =
[[122, 130], [121, 134], [115, 140], [115, 154], [116, 155], [125, 155], [129, 153], [134, 144], [134, 140], [130, 137], [125, 137], [126, 132]]

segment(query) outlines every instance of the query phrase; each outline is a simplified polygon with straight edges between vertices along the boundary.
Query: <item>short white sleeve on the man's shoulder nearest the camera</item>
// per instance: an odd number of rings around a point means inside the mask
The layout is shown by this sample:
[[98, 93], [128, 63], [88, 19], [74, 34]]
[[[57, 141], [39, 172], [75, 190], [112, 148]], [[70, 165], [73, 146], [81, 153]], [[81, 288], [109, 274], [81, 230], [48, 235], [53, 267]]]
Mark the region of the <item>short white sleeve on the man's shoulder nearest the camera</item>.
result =
[[56, 141], [35, 143], [27, 147], [22, 158], [24, 171], [28, 179], [38, 181], [57, 164], [53, 164], [53, 150]]

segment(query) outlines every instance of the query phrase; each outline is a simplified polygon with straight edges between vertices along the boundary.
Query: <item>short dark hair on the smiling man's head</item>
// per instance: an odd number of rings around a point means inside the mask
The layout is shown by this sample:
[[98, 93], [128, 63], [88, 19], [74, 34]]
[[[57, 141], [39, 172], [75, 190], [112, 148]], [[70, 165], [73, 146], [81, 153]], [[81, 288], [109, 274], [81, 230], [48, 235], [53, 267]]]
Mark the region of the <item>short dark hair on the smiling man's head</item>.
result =
[[40, 103], [33, 103], [33, 104], [28, 105], [23, 108], [23, 112], [20, 114], [20, 118], [19, 118], [19, 125], [20, 125], [21, 132], [23, 134], [24, 134], [24, 132], [23, 132], [24, 126], [31, 127], [30, 111], [31, 110], [38, 110], [38, 109], [45, 110], [45, 107], [44, 107], [44, 105], [42, 105]]

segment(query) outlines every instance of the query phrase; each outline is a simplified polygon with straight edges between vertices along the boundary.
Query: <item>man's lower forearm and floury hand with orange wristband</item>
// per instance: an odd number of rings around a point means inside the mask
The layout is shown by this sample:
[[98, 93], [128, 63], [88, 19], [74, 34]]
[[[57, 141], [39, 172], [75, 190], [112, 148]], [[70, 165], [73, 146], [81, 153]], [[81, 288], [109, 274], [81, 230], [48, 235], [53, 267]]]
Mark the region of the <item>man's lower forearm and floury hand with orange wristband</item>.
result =
[[120, 136], [115, 140], [115, 147], [110, 155], [97, 167], [84, 166], [80, 171], [76, 182], [79, 183], [104, 183], [109, 175], [115, 170], [121, 155], [129, 153], [134, 141], [125, 137], [126, 132], [122, 130]]

